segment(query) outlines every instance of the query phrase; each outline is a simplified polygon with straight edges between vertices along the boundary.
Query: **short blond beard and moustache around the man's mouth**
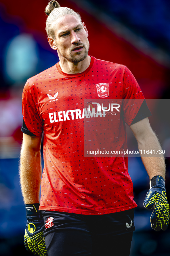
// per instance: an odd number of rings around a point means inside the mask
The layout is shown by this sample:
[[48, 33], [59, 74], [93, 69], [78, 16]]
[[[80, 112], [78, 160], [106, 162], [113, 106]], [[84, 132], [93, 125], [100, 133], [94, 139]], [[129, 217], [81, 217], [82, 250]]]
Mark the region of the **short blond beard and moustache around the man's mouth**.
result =
[[[82, 45], [83, 45], [83, 49], [85, 49], [85, 52], [82, 54], [82, 52], [80, 51], [80, 52], [77, 52], [76, 55], [73, 55], [72, 50], [74, 50], [75, 47], [82, 46]], [[88, 46], [86, 46], [84, 43], [75, 43], [74, 46], [72, 48], [70, 48], [70, 53], [67, 55], [62, 54], [59, 49], [58, 49], [58, 52], [60, 53], [60, 55], [62, 57], [64, 57], [68, 61], [70, 61], [72, 63], [78, 63], [80, 61], [83, 61], [87, 57], [88, 52], [89, 52], [89, 42], [88, 42]]]

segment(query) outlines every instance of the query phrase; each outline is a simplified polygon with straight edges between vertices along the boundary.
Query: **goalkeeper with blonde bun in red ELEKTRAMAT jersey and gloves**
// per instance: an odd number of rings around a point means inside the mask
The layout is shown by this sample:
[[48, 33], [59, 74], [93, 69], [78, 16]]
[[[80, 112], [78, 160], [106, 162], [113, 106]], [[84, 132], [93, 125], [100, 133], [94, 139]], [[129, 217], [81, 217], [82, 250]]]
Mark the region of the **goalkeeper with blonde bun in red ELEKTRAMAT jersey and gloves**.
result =
[[[56, 1], [50, 1], [45, 12], [49, 15], [48, 42], [60, 61], [28, 79], [23, 90], [20, 179], [27, 216], [25, 246], [37, 255], [129, 255], [134, 231], [133, 210], [137, 205], [133, 201], [127, 158], [123, 154], [120, 157], [84, 156], [85, 123], [99, 120], [101, 125], [106, 125], [107, 111], [105, 108], [104, 116], [96, 111], [95, 116], [84, 106], [84, 100], [85, 104], [101, 98], [136, 100], [131, 110], [123, 103], [122, 110], [117, 109], [115, 124], [107, 124], [111, 125], [108, 134], [113, 137], [111, 150], [115, 145], [120, 144], [121, 148], [126, 145], [125, 122], [141, 152], [161, 150], [148, 121], [150, 111], [127, 67], [88, 55], [88, 31], [77, 13], [60, 7]], [[164, 158], [163, 155], [145, 157], [143, 153], [141, 156], [152, 186], [144, 204], [152, 208], [156, 202], [158, 208], [155, 207], [152, 214], [152, 228], [165, 230], [169, 205], [164, 185]]]

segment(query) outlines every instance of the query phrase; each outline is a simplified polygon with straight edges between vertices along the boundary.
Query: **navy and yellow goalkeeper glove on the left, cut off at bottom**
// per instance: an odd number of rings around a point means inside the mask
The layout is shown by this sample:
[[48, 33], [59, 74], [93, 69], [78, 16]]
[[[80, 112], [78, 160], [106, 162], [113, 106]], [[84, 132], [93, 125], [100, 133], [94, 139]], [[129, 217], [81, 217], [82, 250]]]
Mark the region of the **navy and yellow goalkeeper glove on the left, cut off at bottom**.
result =
[[39, 203], [26, 204], [27, 224], [25, 229], [24, 244], [28, 252], [34, 255], [47, 256], [45, 238], [43, 236], [44, 221], [39, 216]]

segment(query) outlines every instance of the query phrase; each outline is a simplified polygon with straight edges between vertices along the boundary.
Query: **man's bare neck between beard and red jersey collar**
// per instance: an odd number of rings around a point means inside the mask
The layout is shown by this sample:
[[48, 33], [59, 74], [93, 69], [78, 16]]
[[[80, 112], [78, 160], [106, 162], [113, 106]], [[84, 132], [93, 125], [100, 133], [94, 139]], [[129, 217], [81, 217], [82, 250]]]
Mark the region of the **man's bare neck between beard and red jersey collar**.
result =
[[62, 56], [59, 56], [59, 59], [60, 68], [66, 74], [78, 74], [85, 71], [89, 67], [91, 61], [91, 57], [89, 55], [78, 63], [70, 62]]

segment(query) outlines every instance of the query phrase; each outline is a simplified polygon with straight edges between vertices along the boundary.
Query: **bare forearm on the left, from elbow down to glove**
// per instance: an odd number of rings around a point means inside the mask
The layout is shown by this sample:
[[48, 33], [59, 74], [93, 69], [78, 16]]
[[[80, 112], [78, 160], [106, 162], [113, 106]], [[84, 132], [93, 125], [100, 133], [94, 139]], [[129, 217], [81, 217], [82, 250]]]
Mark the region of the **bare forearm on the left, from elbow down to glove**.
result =
[[41, 153], [22, 146], [20, 155], [20, 184], [25, 204], [39, 203], [41, 184]]

